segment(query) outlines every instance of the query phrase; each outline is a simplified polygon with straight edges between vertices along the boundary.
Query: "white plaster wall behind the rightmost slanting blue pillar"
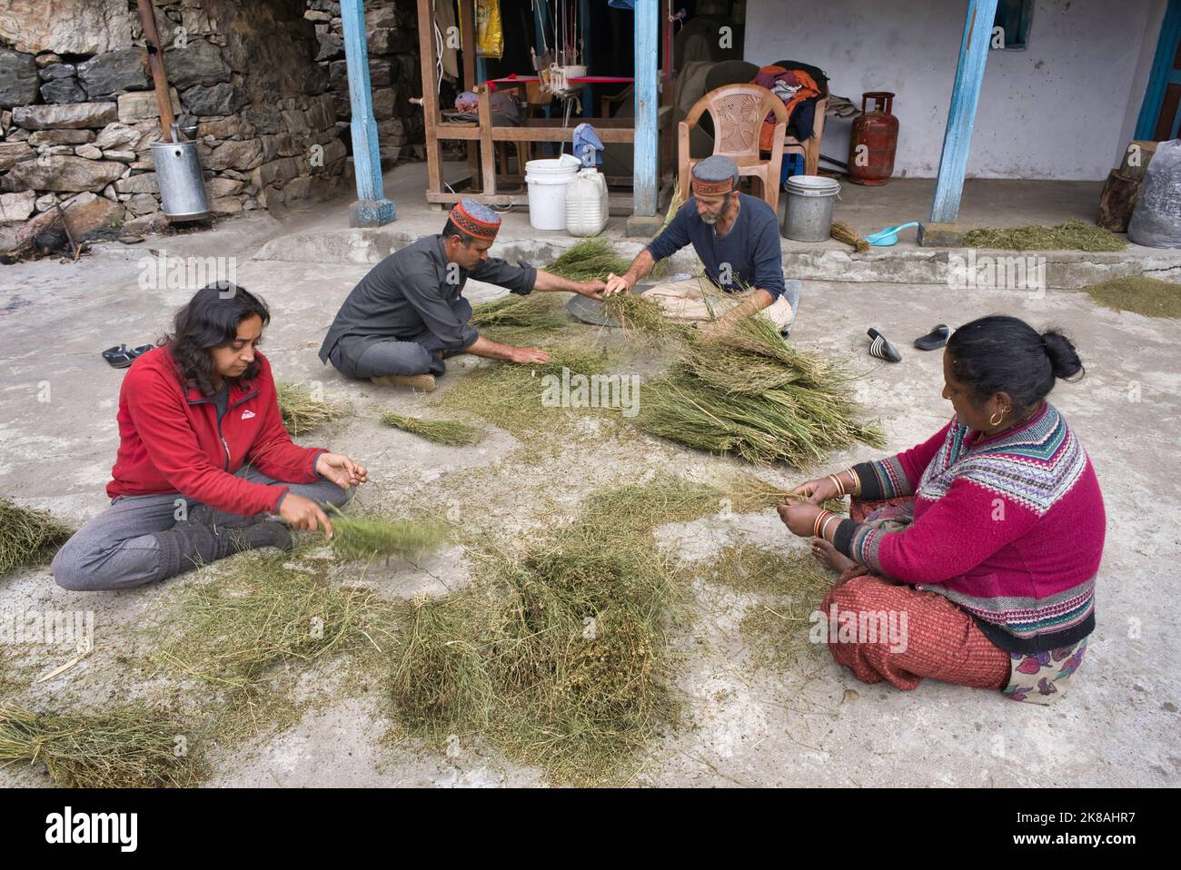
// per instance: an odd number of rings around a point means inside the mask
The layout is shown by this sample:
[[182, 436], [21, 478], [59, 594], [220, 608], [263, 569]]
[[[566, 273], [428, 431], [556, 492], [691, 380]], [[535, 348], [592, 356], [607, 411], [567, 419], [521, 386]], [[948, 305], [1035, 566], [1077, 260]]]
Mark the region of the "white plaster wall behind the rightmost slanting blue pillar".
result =
[[[991, 51], [968, 177], [1101, 179], [1131, 138], [1167, 0], [1038, 0], [1025, 51]], [[824, 70], [833, 93], [894, 91], [895, 176], [934, 177], [966, 0], [749, 0], [746, 60]], [[823, 151], [848, 158], [850, 122]]]

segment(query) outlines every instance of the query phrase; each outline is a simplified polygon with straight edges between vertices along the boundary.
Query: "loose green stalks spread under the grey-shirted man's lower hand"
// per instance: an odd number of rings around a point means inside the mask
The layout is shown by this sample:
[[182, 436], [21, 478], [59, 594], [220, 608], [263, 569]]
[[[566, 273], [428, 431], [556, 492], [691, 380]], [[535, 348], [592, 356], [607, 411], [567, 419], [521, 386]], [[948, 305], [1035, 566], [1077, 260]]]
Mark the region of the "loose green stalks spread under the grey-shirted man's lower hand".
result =
[[[497, 362], [469, 372], [433, 400], [436, 407], [479, 417], [494, 426], [521, 436], [536, 432], [565, 411], [542, 404], [553, 385], [560, 384], [563, 369], [570, 375], [593, 375], [605, 371], [609, 356], [598, 347], [547, 347], [547, 362], [520, 365]], [[555, 380], [547, 380], [553, 375]]]

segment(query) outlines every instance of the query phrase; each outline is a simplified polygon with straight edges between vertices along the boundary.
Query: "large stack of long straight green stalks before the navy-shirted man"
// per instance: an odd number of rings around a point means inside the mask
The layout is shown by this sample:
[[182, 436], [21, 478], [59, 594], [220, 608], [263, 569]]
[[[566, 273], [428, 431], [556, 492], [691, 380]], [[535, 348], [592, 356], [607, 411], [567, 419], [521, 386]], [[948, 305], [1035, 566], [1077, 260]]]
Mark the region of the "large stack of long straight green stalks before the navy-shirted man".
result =
[[846, 381], [755, 315], [689, 341], [665, 377], [644, 385], [635, 423], [711, 453], [803, 466], [855, 441], [885, 444], [880, 429], [855, 419]]

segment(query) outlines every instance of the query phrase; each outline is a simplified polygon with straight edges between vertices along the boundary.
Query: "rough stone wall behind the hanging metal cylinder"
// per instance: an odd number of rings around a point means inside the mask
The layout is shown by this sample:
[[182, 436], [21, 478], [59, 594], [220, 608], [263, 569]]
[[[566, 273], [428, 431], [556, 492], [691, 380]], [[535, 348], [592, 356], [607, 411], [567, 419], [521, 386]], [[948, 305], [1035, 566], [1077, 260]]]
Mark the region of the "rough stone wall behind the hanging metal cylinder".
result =
[[[324, 47], [305, 18], [308, 5], [156, 0], [172, 107], [197, 124], [215, 214], [299, 204], [347, 181], [347, 119], [339, 118], [339, 89], [328, 90], [332, 61], [317, 63]], [[68, 203], [79, 234], [161, 223], [150, 152], [159, 120], [135, 7], [5, 1], [0, 235], [7, 228], [17, 241], [28, 237], [58, 203]]]

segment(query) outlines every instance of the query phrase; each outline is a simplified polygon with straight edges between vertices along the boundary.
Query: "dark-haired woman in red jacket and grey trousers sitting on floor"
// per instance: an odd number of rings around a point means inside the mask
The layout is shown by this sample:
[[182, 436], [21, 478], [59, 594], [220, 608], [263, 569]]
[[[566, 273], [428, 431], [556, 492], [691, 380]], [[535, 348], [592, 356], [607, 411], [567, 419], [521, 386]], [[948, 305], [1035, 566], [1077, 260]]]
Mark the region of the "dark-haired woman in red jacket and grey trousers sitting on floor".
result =
[[209, 284], [177, 313], [162, 346], [131, 365], [119, 391], [111, 506], [54, 557], [59, 586], [126, 589], [242, 550], [289, 549], [289, 528], [331, 537], [322, 505], [346, 502], [365, 469], [292, 444], [257, 351], [269, 320], [243, 288]]

